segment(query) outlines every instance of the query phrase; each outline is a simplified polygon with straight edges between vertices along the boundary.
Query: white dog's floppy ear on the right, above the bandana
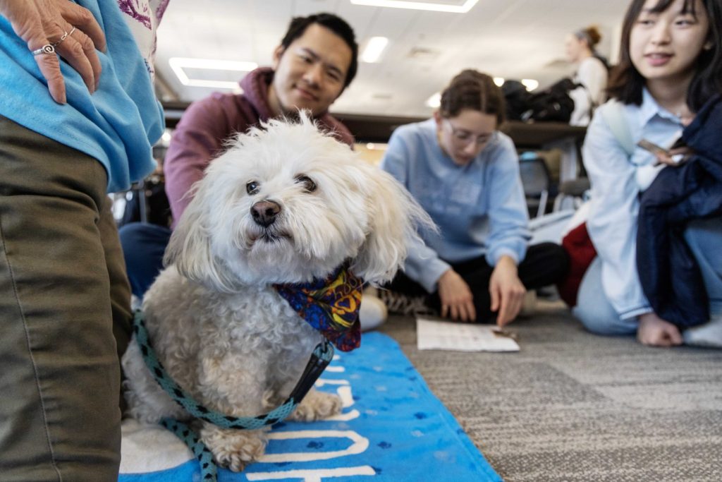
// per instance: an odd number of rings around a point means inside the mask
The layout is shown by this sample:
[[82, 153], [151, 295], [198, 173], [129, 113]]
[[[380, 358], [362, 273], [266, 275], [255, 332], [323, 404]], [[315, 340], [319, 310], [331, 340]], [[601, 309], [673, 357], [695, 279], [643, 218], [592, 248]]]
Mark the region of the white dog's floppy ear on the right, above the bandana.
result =
[[352, 270], [368, 283], [391, 281], [404, 264], [409, 246], [423, 243], [417, 228], [436, 231], [426, 211], [391, 174], [369, 167], [372, 188], [366, 203], [368, 233]]

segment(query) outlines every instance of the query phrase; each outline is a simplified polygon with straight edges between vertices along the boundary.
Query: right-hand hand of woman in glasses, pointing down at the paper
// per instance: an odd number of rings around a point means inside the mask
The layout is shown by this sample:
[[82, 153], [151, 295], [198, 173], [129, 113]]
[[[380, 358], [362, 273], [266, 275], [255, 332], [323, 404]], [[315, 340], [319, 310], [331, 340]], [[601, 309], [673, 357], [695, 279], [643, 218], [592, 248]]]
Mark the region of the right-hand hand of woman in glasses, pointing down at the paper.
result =
[[501, 257], [489, 280], [491, 310], [498, 311], [498, 326], [503, 327], [516, 318], [521, 310], [525, 293], [526, 288], [517, 275], [516, 262], [508, 256]]

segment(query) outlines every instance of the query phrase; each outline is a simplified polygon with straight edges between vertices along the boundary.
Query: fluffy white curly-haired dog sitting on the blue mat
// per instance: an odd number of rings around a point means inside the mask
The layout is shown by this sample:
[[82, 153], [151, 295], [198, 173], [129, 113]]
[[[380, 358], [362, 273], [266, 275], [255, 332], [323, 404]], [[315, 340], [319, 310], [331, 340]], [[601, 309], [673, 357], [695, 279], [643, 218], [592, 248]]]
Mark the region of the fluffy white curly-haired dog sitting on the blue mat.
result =
[[[391, 280], [430, 218], [387, 173], [321, 134], [305, 115], [239, 135], [196, 185], [143, 310], [157, 356], [199, 403], [230, 416], [281, 404], [321, 335], [274, 283], [321, 279], [349, 262], [370, 283]], [[123, 356], [131, 416], [190, 416], [162, 391], [136, 343]], [[336, 395], [311, 390], [292, 418], [339, 413]], [[231, 470], [263, 455], [264, 429], [197, 424]]]

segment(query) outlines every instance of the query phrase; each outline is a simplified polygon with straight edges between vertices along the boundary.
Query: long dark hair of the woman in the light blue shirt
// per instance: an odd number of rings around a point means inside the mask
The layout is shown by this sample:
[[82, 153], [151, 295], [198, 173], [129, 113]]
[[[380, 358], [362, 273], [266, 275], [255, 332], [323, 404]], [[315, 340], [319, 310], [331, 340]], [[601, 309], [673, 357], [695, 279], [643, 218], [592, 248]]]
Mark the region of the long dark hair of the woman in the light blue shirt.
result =
[[[674, 0], [659, 0], [651, 12], [664, 12]], [[718, 92], [722, 92], [722, 1], [702, 0], [706, 10], [710, 30], [708, 42], [712, 48], [703, 50], [697, 57], [695, 77], [687, 90], [687, 106], [692, 112], [697, 112], [704, 103]], [[632, 0], [625, 20], [622, 23], [622, 45], [619, 48], [619, 64], [612, 70], [609, 87], [606, 92], [610, 98], [616, 98], [625, 104], [642, 104], [642, 91], [646, 79], [632, 64], [630, 56], [630, 35], [632, 27], [637, 21], [645, 0]], [[695, 1], [684, 0], [682, 12], [690, 12], [695, 17]]]

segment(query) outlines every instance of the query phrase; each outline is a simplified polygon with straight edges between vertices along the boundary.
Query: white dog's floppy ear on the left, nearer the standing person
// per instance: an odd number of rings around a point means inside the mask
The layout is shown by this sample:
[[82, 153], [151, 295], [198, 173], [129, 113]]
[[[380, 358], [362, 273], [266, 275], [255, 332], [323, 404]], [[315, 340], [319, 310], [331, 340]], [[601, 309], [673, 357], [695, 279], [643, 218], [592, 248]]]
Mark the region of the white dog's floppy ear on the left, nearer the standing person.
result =
[[206, 225], [210, 216], [205, 212], [209, 205], [208, 183], [199, 181], [193, 186], [191, 200], [183, 211], [178, 225], [165, 249], [163, 264], [175, 264], [178, 272], [188, 279], [218, 291], [233, 291], [234, 283], [222, 261], [213, 255], [210, 231]]

